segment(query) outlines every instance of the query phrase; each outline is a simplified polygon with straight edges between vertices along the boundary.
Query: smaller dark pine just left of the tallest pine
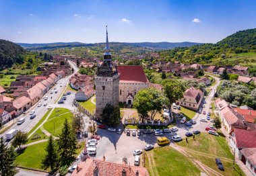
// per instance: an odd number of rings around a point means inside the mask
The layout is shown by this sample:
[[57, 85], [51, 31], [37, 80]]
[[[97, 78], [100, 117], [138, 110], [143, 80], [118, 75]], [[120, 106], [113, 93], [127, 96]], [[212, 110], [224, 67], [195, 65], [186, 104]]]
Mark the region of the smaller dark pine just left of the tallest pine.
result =
[[44, 156], [44, 159], [42, 160], [42, 168], [47, 169], [51, 168], [55, 169], [57, 167], [58, 163], [58, 154], [57, 154], [57, 148], [55, 145], [55, 141], [53, 140], [53, 136], [50, 136], [48, 139], [48, 144], [45, 148], [46, 155]]

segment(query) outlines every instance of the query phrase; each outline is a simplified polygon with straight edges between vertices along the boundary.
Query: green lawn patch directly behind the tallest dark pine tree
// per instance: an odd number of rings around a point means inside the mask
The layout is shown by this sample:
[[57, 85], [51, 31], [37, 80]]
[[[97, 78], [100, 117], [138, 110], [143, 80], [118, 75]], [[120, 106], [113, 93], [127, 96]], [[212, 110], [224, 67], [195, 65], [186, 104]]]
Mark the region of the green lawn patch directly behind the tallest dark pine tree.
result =
[[47, 120], [47, 122], [44, 123], [44, 129], [49, 133], [53, 134], [53, 136], [58, 136], [59, 134], [61, 134], [61, 129], [63, 127], [65, 119], [67, 119], [67, 122], [71, 124], [72, 118], [73, 114], [71, 112], [57, 116], [55, 118], [52, 118], [51, 120]]

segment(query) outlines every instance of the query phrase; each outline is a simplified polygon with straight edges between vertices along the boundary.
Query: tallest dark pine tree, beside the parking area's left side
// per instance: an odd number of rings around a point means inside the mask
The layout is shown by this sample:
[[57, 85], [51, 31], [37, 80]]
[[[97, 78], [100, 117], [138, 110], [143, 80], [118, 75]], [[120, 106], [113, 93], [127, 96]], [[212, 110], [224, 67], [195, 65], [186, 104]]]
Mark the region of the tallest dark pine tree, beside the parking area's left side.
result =
[[58, 152], [59, 152], [59, 163], [61, 166], [69, 165], [73, 160], [76, 148], [75, 132], [71, 129], [71, 126], [65, 119], [62, 132], [59, 135]]

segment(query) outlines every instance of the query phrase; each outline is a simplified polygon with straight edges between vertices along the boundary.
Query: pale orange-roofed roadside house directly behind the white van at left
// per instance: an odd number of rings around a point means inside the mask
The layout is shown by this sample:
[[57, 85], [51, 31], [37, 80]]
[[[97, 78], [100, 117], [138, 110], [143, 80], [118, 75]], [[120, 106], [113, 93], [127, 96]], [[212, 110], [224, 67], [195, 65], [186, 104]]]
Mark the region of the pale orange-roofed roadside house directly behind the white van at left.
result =
[[20, 116], [32, 106], [31, 99], [26, 96], [18, 97], [13, 100], [13, 107], [17, 109], [16, 116]]

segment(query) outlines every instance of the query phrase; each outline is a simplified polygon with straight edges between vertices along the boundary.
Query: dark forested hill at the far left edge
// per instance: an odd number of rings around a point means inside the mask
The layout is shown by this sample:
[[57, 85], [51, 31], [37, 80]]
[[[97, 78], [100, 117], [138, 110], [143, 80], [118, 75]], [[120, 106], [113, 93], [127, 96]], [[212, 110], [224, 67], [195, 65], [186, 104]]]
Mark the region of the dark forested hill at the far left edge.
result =
[[14, 63], [22, 64], [25, 50], [18, 44], [0, 39], [0, 70], [11, 67]]

